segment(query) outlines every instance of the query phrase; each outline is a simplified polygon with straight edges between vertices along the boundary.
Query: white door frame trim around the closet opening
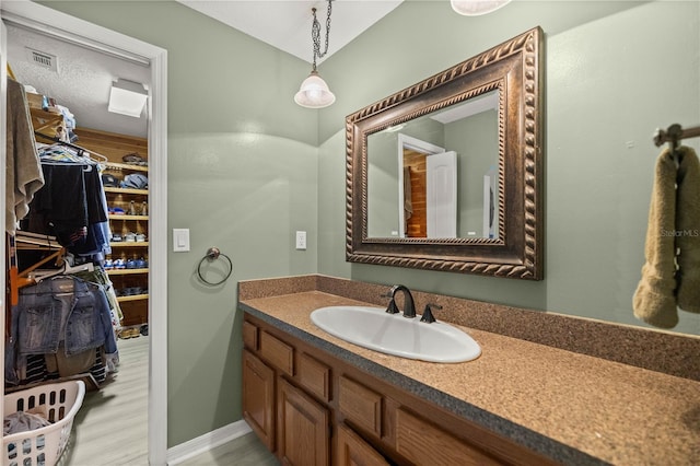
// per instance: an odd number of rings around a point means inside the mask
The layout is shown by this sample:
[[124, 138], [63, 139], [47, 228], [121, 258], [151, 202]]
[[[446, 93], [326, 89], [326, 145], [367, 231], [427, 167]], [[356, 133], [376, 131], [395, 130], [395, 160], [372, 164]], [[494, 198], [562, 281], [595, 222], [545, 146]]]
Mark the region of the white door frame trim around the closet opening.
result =
[[[148, 375], [148, 444], [149, 463], [151, 465], [165, 465], [167, 456], [166, 51], [160, 47], [124, 36], [33, 2], [3, 2], [0, 15], [2, 18], [3, 38], [0, 55], [2, 58], [2, 102], [5, 102], [7, 92], [4, 82], [7, 79], [8, 49], [5, 38], [8, 37], [8, 26], [40, 33], [51, 39], [71, 43], [85, 49], [96, 50], [113, 57], [145, 61], [149, 67], [150, 98], [147, 114], [150, 189], [148, 231], [150, 236], [149, 268], [152, 272], [149, 275], [148, 305], [148, 343], [150, 347]], [[12, 39], [10, 38], [10, 40]], [[2, 143], [3, 147], [7, 136], [4, 128], [5, 120], [3, 119], [2, 131], [0, 131], [0, 143]], [[7, 164], [4, 151], [1, 161]], [[2, 190], [2, 198], [4, 202], [4, 189]], [[3, 263], [7, 264], [8, 258], [4, 248], [2, 248], [0, 256]], [[153, 271], [158, 272], [154, 273]], [[2, 278], [7, 279], [4, 275]], [[4, 300], [2, 300], [2, 311], [3, 314], [8, 312]], [[4, 334], [4, 322], [0, 323], [0, 329], [2, 329]], [[3, 359], [4, 358], [0, 358], [0, 361], [3, 361]], [[0, 415], [2, 415], [1, 411]], [[128, 413], [126, 415], [128, 416]]]

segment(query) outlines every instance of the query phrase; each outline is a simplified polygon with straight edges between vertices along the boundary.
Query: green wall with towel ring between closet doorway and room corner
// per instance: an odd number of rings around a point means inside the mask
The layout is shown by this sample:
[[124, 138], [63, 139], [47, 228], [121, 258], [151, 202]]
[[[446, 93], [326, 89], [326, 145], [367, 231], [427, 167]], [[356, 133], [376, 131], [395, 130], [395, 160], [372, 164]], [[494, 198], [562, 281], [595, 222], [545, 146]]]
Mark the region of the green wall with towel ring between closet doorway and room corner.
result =
[[[241, 419], [236, 281], [317, 270], [317, 120], [292, 96], [310, 66], [172, 1], [46, 2], [168, 51], [168, 445]], [[308, 233], [294, 249], [293, 232]], [[207, 288], [210, 246], [233, 277]], [[212, 275], [215, 279], [215, 275]]]

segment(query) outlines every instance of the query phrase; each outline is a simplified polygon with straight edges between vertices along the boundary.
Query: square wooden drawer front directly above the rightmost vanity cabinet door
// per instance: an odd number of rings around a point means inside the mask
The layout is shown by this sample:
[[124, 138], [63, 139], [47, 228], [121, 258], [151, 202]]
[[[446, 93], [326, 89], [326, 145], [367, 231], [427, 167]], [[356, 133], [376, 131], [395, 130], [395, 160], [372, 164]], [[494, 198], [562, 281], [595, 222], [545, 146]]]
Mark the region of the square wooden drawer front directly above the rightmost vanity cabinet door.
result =
[[359, 428], [382, 436], [382, 395], [345, 376], [339, 382], [340, 412]]

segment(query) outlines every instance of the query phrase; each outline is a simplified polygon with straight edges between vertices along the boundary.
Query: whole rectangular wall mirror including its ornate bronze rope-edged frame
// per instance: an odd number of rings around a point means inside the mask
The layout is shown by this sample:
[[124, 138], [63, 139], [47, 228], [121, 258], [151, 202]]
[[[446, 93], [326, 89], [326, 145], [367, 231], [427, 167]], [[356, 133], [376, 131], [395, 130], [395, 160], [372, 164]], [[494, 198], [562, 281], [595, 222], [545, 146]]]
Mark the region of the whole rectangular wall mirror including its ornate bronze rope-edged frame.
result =
[[541, 35], [346, 118], [348, 261], [542, 278]]

